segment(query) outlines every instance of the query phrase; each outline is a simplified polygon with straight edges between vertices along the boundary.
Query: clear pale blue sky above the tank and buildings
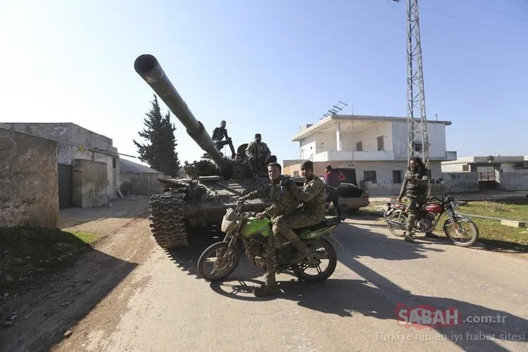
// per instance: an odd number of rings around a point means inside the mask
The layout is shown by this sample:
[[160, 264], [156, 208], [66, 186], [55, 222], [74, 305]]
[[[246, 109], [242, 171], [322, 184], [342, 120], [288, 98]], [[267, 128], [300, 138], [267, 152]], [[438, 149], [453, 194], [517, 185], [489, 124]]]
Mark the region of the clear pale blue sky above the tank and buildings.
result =
[[[158, 58], [209, 132], [227, 120], [236, 145], [260, 132], [279, 161], [298, 158], [291, 137], [338, 100], [343, 113], [406, 116], [405, 0], [3, 4], [2, 122], [74, 122], [137, 156], [153, 99], [133, 69], [140, 54]], [[447, 149], [528, 155], [528, 1], [420, 7], [427, 117], [453, 122]], [[199, 158], [176, 125], [182, 161]]]

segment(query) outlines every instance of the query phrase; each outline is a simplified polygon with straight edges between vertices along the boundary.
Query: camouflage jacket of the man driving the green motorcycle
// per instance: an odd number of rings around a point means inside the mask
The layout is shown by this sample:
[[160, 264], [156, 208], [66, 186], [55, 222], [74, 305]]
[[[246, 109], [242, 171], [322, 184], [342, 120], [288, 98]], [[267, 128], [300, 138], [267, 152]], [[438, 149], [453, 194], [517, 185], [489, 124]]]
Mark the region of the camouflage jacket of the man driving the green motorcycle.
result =
[[294, 210], [299, 206], [300, 202], [296, 197], [287, 189], [287, 187], [281, 186], [279, 183], [286, 179], [285, 176], [280, 176], [279, 179], [274, 183], [267, 183], [250, 192], [245, 196], [246, 199], [264, 198], [272, 201], [272, 205], [265, 208], [263, 213], [268, 218], [275, 218], [279, 215], [285, 215], [293, 213]]

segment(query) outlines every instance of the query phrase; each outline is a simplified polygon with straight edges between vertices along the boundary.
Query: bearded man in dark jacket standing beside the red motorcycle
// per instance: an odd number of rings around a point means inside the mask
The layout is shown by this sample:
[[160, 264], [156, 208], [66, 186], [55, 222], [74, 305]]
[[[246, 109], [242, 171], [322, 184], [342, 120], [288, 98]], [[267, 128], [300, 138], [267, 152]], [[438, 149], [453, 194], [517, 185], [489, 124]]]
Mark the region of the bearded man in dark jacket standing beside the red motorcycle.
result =
[[416, 222], [417, 207], [425, 204], [427, 199], [427, 188], [429, 187], [429, 170], [425, 168], [419, 157], [410, 158], [409, 167], [403, 177], [398, 201], [403, 195], [407, 197], [407, 231], [406, 241], [415, 242], [413, 227]]

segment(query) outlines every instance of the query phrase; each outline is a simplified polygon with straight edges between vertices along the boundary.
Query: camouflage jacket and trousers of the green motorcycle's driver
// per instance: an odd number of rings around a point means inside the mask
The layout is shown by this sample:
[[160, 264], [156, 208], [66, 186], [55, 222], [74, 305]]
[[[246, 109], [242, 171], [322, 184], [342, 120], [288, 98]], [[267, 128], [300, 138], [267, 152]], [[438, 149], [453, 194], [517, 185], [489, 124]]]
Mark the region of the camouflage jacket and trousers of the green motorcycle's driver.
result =
[[[288, 177], [281, 175], [275, 182], [265, 184], [260, 189], [250, 192], [245, 199], [256, 199], [256, 198], [267, 198], [272, 201], [272, 205], [265, 208], [263, 211], [264, 215], [275, 224], [277, 218], [281, 218], [284, 214], [293, 213], [299, 205], [298, 199], [296, 196], [287, 189], [287, 187], [282, 186], [282, 182], [288, 180]], [[275, 228], [275, 225], [273, 226]], [[268, 243], [264, 248], [263, 259], [265, 265], [265, 284], [270, 287], [277, 286], [275, 281], [275, 272], [277, 271], [277, 258], [275, 255], [275, 231], [273, 232], [274, 236], [268, 238]]]

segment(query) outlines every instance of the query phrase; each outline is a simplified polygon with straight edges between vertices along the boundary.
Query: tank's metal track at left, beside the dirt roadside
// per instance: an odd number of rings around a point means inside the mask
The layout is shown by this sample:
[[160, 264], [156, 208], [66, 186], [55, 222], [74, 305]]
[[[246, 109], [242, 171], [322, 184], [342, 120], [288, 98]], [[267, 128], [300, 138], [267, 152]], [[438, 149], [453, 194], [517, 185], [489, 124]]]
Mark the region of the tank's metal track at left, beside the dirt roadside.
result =
[[187, 187], [175, 187], [161, 194], [153, 194], [149, 200], [151, 231], [163, 249], [189, 246], [183, 215], [186, 189]]

